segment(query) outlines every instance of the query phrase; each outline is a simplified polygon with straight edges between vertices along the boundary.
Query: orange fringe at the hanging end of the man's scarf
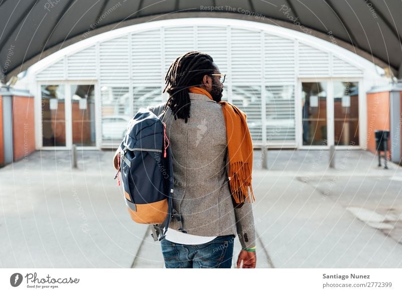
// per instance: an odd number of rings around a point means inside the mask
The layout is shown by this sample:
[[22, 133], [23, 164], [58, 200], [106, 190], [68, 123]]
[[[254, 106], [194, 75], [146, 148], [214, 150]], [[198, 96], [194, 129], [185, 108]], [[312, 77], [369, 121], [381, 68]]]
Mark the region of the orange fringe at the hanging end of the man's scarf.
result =
[[[247, 174], [250, 174], [247, 178]], [[230, 187], [236, 204], [255, 201], [253, 188], [251, 186], [251, 170], [249, 163], [235, 162], [229, 165]], [[248, 192], [250, 189], [250, 193]], [[250, 198], [251, 196], [251, 198]]]

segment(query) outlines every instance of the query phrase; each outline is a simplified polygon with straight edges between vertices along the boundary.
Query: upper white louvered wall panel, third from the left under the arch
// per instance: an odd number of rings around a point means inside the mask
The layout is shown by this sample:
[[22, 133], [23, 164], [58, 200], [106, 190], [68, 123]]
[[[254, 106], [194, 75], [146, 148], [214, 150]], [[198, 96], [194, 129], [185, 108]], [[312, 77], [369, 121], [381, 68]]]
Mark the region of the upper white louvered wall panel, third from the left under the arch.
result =
[[126, 83], [129, 80], [128, 36], [99, 44], [99, 68], [102, 83]]

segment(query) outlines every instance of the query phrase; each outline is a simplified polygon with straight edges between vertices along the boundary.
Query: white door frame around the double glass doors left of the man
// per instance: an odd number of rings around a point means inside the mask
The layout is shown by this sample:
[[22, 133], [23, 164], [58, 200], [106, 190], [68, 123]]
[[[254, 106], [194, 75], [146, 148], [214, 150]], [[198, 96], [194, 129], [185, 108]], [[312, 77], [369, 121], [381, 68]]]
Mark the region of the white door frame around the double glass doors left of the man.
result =
[[[66, 146], [43, 146], [43, 123], [42, 123], [42, 85], [64, 85], [64, 115], [66, 125]], [[77, 146], [77, 150], [99, 150], [100, 149], [100, 136], [102, 136], [102, 120], [100, 114], [102, 114], [102, 107], [100, 106], [99, 86], [97, 80], [49, 80], [47, 82], [40, 81], [37, 83], [37, 99], [35, 104], [36, 121], [39, 121], [37, 127], [37, 145], [41, 150], [71, 150], [72, 149], [72, 113], [71, 113], [71, 88], [70, 85], [93, 85], [95, 94], [95, 146]]]

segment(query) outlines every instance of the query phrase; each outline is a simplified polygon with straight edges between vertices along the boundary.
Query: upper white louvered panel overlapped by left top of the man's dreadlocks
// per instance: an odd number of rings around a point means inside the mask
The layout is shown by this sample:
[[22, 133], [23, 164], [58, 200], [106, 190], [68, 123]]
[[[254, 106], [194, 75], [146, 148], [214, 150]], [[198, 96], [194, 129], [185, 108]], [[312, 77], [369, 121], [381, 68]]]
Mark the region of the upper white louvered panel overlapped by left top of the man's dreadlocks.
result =
[[177, 57], [195, 50], [194, 44], [194, 28], [191, 27], [179, 27], [179, 28], [165, 28], [165, 69], [169, 69], [169, 66], [176, 60]]

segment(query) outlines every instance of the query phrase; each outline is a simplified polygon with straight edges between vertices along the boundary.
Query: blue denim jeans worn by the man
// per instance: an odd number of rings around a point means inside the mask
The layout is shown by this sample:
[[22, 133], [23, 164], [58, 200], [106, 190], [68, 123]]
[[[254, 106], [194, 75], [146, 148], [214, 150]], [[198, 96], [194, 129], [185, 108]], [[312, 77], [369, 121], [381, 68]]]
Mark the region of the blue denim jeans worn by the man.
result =
[[218, 236], [197, 245], [177, 244], [161, 240], [166, 268], [230, 268], [232, 266], [234, 235]]

